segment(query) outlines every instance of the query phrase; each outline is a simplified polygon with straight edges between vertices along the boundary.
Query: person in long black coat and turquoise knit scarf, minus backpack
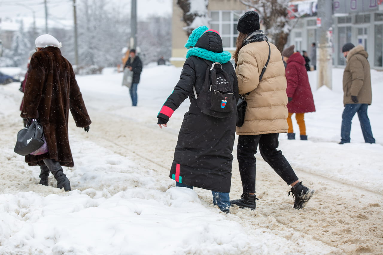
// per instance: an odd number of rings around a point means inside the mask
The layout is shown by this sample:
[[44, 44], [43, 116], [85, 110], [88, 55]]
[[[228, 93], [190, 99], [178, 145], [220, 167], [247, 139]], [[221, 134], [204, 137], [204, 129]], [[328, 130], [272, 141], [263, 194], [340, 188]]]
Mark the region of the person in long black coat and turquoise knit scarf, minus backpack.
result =
[[229, 75], [237, 101], [238, 84], [234, 67], [229, 62], [231, 54], [223, 51], [219, 33], [206, 26], [194, 29], [185, 47], [189, 50], [180, 80], [157, 116], [157, 124], [161, 128], [166, 127], [173, 112], [189, 97], [189, 111], [185, 114], [178, 134], [169, 176], [176, 181], [177, 187], [211, 190], [213, 203], [221, 211], [229, 213], [236, 111], [233, 110], [226, 118], [202, 113], [196, 103], [193, 86], [196, 95], [199, 95], [208, 63], [219, 62]]

